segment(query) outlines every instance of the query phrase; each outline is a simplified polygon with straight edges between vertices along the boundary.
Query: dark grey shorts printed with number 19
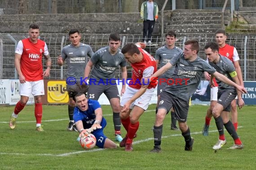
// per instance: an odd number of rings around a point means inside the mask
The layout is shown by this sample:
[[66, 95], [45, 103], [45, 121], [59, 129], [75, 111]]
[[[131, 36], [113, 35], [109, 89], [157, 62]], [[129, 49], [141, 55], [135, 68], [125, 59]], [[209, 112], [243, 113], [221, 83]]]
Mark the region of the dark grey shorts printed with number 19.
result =
[[173, 107], [176, 119], [179, 122], [186, 122], [189, 110], [189, 101], [177, 98], [172, 94], [163, 91], [160, 95], [159, 106], [157, 109], [166, 109], [167, 113]]

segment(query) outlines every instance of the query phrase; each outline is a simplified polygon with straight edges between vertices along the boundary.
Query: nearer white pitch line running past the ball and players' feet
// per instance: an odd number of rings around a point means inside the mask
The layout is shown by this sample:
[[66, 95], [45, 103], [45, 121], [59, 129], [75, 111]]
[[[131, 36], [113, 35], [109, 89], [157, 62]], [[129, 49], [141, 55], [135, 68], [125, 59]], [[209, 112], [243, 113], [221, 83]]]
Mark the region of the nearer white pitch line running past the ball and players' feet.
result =
[[[241, 128], [243, 126], [239, 126], [237, 128]], [[218, 132], [218, 130], [214, 130], [214, 131], [209, 131], [209, 132]], [[198, 135], [198, 134], [202, 134], [202, 132], [192, 132], [190, 133], [191, 135]], [[181, 134], [174, 134], [174, 135], [168, 135], [168, 136], [162, 136], [162, 138], [168, 138], [168, 137], [173, 137], [173, 136], [181, 136]], [[154, 138], [150, 137], [144, 140], [137, 140], [135, 142], [132, 142], [132, 144], [140, 144], [142, 142], [146, 142], [149, 140], [154, 140]], [[92, 150], [83, 150], [83, 151], [76, 151], [76, 152], [70, 152], [70, 153], [62, 153], [62, 154], [46, 154], [46, 153], [42, 153], [42, 154], [25, 154], [25, 153], [0, 153], [0, 155], [35, 155], [35, 156], [54, 156], [54, 157], [66, 157], [69, 155], [73, 155], [73, 154], [78, 154], [78, 153], [86, 153], [86, 152], [97, 152], [97, 151], [102, 151], [105, 149], [92, 149]]]

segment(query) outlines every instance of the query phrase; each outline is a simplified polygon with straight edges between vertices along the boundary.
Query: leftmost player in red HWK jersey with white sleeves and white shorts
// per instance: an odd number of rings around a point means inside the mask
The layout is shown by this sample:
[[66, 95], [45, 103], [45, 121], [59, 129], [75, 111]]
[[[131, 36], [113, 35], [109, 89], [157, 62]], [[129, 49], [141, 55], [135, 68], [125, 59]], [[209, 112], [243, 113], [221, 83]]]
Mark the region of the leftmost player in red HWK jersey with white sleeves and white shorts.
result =
[[[35, 99], [35, 119], [36, 131], [44, 131], [41, 126], [43, 106], [42, 95], [44, 95], [44, 77], [50, 75], [51, 58], [47, 45], [44, 41], [38, 39], [39, 26], [32, 24], [28, 30], [29, 38], [22, 39], [18, 42], [14, 65], [19, 75], [19, 88], [21, 99], [16, 104], [11, 116], [9, 127], [16, 127], [16, 119], [18, 113], [24, 108], [29, 99], [30, 94]], [[46, 70], [43, 71], [42, 56], [44, 55], [46, 62]]]

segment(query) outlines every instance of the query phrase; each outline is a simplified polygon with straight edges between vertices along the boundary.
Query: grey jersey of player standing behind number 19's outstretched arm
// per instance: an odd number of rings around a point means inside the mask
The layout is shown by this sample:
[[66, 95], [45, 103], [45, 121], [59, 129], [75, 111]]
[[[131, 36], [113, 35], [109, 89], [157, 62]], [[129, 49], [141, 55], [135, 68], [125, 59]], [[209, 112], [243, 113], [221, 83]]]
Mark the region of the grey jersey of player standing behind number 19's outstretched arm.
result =
[[[160, 47], [156, 52], [154, 59], [159, 60], [160, 68], [167, 64], [170, 59], [178, 56], [182, 50], [176, 46], [172, 49], [168, 49], [166, 46]], [[159, 78], [171, 78], [175, 67], [168, 69]]]

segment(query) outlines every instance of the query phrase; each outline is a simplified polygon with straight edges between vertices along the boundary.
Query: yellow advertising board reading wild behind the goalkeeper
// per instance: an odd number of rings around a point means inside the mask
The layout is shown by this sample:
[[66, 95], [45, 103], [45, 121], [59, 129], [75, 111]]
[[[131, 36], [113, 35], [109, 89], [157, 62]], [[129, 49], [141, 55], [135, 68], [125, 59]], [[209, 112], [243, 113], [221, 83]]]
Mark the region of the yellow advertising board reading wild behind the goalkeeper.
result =
[[66, 90], [66, 81], [48, 81], [47, 82], [47, 102], [67, 103], [69, 100]]

